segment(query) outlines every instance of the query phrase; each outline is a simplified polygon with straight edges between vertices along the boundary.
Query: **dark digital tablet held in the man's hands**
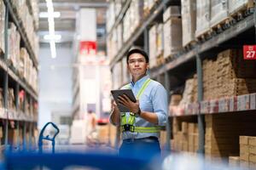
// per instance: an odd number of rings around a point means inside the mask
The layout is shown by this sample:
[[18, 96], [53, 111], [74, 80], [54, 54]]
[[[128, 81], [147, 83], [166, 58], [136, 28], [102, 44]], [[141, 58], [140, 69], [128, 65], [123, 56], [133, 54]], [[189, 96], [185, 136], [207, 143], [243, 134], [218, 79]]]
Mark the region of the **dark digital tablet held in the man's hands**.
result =
[[131, 101], [133, 102], [137, 101], [131, 89], [111, 90], [111, 94], [113, 95], [113, 99], [115, 103], [118, 105], [120, 112], [130, 112], [130, 111], [127, 107], [125, 107], [125, 105], [119, 104], [119, 101], [118, 101], [119, 95], [125, 94], [126, 96], [128, 96], [129, 99], [131, 99]]

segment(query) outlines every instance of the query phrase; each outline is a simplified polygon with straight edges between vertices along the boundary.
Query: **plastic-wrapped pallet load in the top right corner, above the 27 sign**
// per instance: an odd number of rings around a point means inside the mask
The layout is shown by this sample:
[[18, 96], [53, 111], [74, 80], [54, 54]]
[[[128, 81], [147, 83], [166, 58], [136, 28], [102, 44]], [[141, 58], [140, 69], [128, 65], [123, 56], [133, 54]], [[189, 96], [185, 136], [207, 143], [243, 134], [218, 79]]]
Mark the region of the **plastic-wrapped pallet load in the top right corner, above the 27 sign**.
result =
[[253, 0], [229, 0], [229, 14], [235, 14], [242, 8], [253, 8]]

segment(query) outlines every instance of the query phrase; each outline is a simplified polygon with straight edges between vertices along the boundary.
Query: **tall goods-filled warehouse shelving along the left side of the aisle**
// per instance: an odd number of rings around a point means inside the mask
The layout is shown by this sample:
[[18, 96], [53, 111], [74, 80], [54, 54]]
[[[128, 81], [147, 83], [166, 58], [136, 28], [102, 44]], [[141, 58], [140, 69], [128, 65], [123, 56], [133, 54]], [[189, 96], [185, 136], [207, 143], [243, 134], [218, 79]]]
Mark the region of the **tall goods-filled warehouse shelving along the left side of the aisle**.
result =
[[[21, 17], [14, 2], [9, 0], [0, 2], [1, 14], [4, 15], [2, 20], [4, 44], [1, 47], [0, 59], [0, 81], [2, 82], [0, 118], [3, 120], [0, 125], [0, 141], [2, 149], [34, 150], [38, 138], [38, 54], [32, 42], [35, 44], [37, 42], [31, 41], [31, 35], [27, 35], [26, 23], [20, 20]], [[26, 8], [32, 8], [32, 6], [26, 6]], [[13, 40], [9, 38], [12, 36], [9, 31], [14, 27], [15, 33], [20, 37], [20, 42], [15, 44], [17, 46], [11, 44]], [[36, 26], [33, 31], [37, 31]], [[35, 32], [32, 33], [36, 35]], [[16, 50], [17, 56], [11, 54], [13, 50]], [[26, 58], [21, 59], [21, 56]], [[29, 63], [30, 60], [31, 63]]]

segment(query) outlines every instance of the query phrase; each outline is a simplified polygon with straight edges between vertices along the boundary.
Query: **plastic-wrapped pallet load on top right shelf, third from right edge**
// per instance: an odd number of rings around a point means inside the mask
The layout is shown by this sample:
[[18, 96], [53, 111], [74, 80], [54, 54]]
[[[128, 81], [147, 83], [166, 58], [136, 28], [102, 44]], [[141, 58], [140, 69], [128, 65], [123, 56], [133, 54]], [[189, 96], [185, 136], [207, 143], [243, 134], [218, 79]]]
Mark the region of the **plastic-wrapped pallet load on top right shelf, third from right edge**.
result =
[[200, 37], [210, 29], [210, 0], [196, 0], [195, 37]]

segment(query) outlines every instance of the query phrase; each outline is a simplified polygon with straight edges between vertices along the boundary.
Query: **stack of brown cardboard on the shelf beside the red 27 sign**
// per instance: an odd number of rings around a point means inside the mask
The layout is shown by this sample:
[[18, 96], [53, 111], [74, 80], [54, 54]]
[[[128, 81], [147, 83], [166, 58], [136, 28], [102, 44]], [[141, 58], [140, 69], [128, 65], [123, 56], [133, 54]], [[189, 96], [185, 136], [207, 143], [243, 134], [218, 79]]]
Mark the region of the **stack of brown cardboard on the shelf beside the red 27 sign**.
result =
[[241, 49], [218, 54], [217, 63], [219, 98], [256, 92], [256, 63], [244, 60]]

